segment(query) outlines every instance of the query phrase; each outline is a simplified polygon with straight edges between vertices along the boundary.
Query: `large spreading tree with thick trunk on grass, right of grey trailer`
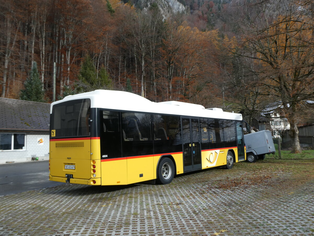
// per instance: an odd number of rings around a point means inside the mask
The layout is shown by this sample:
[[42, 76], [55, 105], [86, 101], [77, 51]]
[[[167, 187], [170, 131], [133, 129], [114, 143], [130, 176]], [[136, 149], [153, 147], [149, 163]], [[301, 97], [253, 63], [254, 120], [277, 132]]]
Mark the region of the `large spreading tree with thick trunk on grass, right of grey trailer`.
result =
[[300, 153], [298, 122], [306, 100], [314, 98], [314, 50], [310, 1], [266, 0], [241, 6], [237, 56], [254, 61], [254, 72], [267, 87], [263, 95], [282, 103], [294, 139], [292, 153]]

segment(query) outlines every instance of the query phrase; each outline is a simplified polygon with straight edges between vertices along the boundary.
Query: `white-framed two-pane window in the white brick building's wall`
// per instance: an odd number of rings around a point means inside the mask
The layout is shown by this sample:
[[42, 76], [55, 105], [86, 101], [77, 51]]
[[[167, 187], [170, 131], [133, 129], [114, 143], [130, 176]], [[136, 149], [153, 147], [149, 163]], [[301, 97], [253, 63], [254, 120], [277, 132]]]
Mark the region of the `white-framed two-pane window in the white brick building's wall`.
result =
[[0, 150], [21, 150], [25, 149], [25, 134], [1, 133]]

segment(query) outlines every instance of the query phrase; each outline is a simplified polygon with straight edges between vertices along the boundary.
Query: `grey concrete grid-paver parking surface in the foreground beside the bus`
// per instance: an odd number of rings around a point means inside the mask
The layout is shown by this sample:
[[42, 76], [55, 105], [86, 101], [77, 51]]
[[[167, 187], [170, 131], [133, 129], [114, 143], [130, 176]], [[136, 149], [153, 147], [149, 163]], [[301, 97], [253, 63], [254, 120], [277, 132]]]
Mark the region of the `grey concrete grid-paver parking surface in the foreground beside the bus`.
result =
[[224, 189], [221, 171], [168, 185], [64, 184], [2, 196], [0, 235], [314, 235], [312, 181], [294, 192], [269, 183]]

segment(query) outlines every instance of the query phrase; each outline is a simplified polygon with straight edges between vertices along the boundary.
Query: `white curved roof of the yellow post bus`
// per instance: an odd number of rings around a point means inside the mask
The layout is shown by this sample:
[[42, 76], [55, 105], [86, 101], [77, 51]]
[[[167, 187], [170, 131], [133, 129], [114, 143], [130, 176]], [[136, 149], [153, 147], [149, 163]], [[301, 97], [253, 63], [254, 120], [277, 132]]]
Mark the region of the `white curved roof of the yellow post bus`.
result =
[[55, 104], [69, 100], [84, 98], [90, 98], [92, 108], [195, 117], [210, 117], [239, 121], [242, 120], [241, 114], [224, 112], [222, 111], [222, 109], [208, 110], [205, 109], [202, 105], [178, 101], [155, 103], [134, 93], [112, 90], [95, 90], [87, 93], [69, 95], [60, 101], [52, 103], [50, 113], [52, 113], [52, 106]]

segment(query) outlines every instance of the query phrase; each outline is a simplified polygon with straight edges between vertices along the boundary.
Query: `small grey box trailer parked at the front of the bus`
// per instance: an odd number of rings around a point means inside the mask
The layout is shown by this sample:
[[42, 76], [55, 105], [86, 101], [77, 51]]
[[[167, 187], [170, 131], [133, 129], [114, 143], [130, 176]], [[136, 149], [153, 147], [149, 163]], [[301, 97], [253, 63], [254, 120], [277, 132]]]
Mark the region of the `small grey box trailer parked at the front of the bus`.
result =
[[265, 154], [274, 154], [276, 151], [272, 133], [269, 130], [245, 134], [244, 143], [248, 162], [255, 162], [257, 158], [264, 159]]

